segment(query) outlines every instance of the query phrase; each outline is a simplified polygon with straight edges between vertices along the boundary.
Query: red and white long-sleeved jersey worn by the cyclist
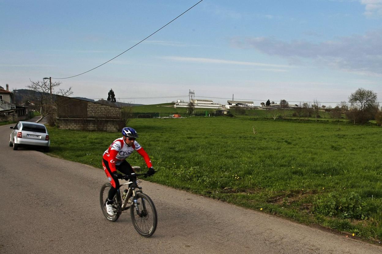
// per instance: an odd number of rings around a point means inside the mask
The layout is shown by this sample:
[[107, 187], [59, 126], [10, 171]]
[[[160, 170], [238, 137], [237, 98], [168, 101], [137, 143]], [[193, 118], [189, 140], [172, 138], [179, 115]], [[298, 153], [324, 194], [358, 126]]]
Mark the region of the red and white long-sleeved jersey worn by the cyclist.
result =
[[127, 157], [129, 157], [134, 150], [140, 154], [146, 162], [147, 167], [151, 167], [151, 160], [149, 155], [147, 155], [146, 151], [141, 147], [137, 141], [134, 140], [132, 146], [126, 145], [123, 138], [118, 138], [112, 142], [112, 144], [105, 150], [102, 158], [107, 160], [110, 170], [112, 172], [117, 171], [115, 165], [120, 165]]

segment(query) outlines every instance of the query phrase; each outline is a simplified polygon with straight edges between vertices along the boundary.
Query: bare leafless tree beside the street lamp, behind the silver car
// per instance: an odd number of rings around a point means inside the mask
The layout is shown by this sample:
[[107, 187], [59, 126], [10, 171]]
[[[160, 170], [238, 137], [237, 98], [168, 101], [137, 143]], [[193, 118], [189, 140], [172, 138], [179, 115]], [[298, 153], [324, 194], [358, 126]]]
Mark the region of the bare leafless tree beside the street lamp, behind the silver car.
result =
[[[38, 105], [38, 107], [36, 107], [38, 108], [37, 112], [41, 114], [36, 123], [40, 122], [45, 116], [55, 113], [57, 107], [54, 103], [54, 95], [69, 96], [73, 94], [71, 87], [69, 87], [68, 90], [59, 89], [58, 92], [54, 92], [55, 88], [58, 88], [60, 84], [60, 81], [55, 81], [50, 84], [48, 80], [43, 79], [42, 81], [31, 81], [31, 84], [26, 86], [34, 91], [31, 95], [29, 95], [28, 99], [31, 102], [34, 102], [36, 106]], [[50, 91], [52, 91], [52, 94], [50, 94]]]

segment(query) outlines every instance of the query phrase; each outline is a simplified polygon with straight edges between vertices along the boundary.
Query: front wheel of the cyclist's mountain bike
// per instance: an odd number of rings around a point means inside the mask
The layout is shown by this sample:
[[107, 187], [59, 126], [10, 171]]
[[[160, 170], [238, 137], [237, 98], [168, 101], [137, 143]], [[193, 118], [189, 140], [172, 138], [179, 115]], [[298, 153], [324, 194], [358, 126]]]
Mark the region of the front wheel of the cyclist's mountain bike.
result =
[[[130, 207], [131, 221], [139, 234], [150, 237], [157, 228], [157, 210], [154, 202], [144, 193], [137, 193], [135, 199], [137, 206], [133, 202]], [[140, 214], [137, 212], [137, 207]]]

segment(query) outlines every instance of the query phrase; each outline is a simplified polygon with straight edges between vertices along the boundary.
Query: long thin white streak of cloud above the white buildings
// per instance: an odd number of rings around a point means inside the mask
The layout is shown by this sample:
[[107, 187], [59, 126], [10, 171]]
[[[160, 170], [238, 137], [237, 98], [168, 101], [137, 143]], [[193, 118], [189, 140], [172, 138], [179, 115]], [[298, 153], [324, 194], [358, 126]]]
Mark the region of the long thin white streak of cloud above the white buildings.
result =
[[[161, 57], [162, 59], [172, 60], [172, 61], [182, 61], [190, 63], [215, 63], [215, 64], [230, 64], [230, 65], [248, 65], [248, 66], [261, 66], [261, 67], [275, 67], [275, 68], [293, 68], [295, 66], [291, 65], [275, 65], [269, 63], [256, 63], [256, 62], [245, 62], [245, 61], [233, 61], [233, 60], [223, 60], [223, 59], [213, 59], [213, 58], [197, 58], [197, 57]], [[270, 69], [267, 69], [270, 70]], [[277, 70], [282, 71], [282, 70]]]

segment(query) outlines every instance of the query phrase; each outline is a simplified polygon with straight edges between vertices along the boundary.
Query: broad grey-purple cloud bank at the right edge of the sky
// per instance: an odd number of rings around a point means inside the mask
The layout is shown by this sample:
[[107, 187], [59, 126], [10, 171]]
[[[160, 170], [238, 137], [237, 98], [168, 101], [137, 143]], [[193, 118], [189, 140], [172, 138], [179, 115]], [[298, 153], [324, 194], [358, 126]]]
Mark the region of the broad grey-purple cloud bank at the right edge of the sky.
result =
[[231, 42], [235, 47], [254, 48], [290, 62], [306, 59], [317, 65], [346, 71], [382, 74], [382, 30], [320, 43], [305, 40], [284, 42], [273, 37], [235, 38]]

